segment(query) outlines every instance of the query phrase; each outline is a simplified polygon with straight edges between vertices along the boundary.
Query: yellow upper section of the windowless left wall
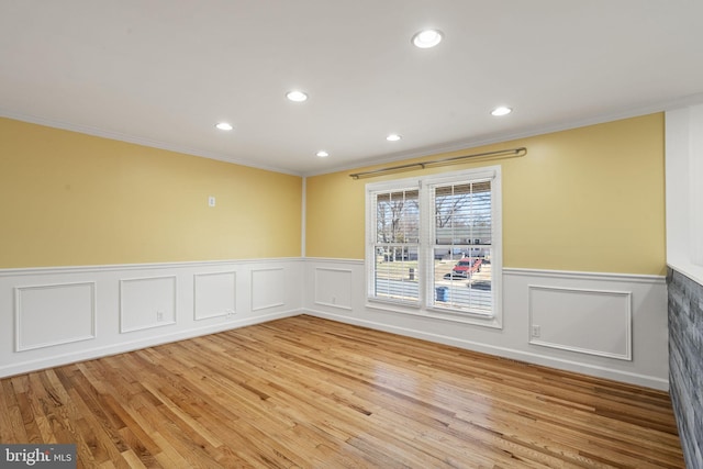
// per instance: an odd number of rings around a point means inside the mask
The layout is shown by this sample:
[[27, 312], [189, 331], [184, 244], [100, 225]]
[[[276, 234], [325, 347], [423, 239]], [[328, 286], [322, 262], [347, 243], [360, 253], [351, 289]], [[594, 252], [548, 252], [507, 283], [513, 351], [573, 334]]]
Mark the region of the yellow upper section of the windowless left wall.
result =
[[297, 176], [0, 119], [0, 268], [298, 257], [301, 199]]

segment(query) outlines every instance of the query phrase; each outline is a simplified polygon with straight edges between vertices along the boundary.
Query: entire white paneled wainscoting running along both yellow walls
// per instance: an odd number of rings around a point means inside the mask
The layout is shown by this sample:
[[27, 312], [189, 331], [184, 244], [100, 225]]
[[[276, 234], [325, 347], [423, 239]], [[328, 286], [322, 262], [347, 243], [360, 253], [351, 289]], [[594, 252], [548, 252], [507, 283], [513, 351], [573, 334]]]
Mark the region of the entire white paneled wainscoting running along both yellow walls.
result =
[[0, 377], [305, 312], [668, 389], [663, 277], [505, 268], [502, 328], [369, 309], [365, 284], [348, 259], [3, 269]]

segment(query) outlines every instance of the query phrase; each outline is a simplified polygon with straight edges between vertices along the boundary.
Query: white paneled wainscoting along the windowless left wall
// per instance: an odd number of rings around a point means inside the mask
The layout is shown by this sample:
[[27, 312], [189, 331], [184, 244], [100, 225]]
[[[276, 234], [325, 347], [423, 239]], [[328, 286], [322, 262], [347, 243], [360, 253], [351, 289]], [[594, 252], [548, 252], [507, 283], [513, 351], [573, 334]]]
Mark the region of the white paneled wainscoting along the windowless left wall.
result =
[[0, 377], [300, 314], [303, 271], [301, 258], [0, 269]]

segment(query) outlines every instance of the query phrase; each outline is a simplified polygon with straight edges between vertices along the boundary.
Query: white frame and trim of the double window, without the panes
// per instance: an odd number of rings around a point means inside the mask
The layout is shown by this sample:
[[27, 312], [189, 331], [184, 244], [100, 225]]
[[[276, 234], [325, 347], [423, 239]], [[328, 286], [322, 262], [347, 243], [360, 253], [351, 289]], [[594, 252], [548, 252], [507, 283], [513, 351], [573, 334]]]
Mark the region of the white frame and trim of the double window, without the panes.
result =
[[[434, 275], [434, 206], [431, 206], [432, 190], [435, 186], [464, 183], [479, 180], [491, 180], [491, 293], [492, 314], [479, 314], [462, 312], [445, 308], [435, 308], [434, 282], [429, 279]], [[370, 182], [366, 185], [366, 306], [375, 310], [383, 310], [403, 314], [435, 317], [446, 321], [478, 324], [487, 327], [502, 328], [503, 304], [502, 304], [502, 188], [501, 167], [489, 166], [476, 169], [445, 172], [440, 175], [428, 175], [415, 178], [403, 178], [382, 182]], [[408, 303], [389, 299], [373, 297], [375, 291], [375, 261], [376, 261], [376, 205], [375, 194], [378, 192], [417, 189], [420, 191], [420, 250], [417, 256], [417, 275], [421, 279], [419, 284], [420, 301]]]

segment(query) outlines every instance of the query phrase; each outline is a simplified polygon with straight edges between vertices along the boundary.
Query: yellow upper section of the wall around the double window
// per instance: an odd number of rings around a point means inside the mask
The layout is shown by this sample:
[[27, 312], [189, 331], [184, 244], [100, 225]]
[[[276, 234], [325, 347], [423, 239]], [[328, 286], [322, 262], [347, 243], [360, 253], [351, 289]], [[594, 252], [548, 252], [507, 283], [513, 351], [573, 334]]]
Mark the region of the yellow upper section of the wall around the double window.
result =
[[310, 177], [306, 255], [364, 258], [367, 182], [500, 164], [505, 267], [662, 275], [663, 131], [663, 114], [651, 114], [420, 160], [525, 146], [522, 158], [372, 179], [348, 174], [375, 167]]

